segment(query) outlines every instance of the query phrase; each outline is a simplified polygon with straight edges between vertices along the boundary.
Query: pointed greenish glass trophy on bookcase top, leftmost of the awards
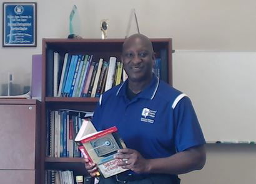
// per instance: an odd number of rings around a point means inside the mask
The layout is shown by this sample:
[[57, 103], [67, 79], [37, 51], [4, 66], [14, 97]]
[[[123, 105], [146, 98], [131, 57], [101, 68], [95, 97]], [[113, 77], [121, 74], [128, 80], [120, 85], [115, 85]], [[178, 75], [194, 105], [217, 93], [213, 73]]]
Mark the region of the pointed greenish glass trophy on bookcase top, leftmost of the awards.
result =
[[80, 34], [80, 18], [76, 5], [73, 6], [69, 16], [69, 36], [68, 39], [82, 39]]

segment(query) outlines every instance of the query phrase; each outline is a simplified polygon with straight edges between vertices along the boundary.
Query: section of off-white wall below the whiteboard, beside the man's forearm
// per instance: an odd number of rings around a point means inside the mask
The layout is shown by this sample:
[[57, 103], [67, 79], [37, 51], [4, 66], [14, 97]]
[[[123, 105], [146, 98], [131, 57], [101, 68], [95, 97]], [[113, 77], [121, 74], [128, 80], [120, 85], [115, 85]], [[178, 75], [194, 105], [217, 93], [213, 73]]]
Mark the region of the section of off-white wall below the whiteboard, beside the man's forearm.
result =
[[179, 177], [182, 184], [256, 183], [255, 145], [208, 144], [203, 170]]

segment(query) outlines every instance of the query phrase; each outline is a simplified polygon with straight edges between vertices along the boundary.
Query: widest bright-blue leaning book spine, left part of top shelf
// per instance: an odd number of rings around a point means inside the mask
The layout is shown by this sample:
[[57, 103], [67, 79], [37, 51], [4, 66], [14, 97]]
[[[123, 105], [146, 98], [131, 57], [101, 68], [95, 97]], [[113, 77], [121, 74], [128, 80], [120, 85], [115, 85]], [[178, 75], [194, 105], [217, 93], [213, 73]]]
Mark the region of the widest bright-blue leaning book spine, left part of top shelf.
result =
[[69, 72], [67, 73], [67, 81], [64, 89], [64, 96], [68, 96], [69, 91], [71, 89], [72, 79], [76, 70], [77, 58], [78, 58], [77, 55], [72, 55], [71, 57], [71, 64], [69, 67]]

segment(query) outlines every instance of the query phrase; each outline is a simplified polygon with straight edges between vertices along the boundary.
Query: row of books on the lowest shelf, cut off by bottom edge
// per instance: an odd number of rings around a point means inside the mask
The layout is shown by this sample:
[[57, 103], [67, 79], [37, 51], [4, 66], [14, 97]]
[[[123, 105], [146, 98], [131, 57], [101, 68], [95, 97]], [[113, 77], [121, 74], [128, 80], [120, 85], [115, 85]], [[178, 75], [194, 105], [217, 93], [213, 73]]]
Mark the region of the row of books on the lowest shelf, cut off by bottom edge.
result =
[[82, 175], [74, 176], [72, 170], [46, 170], [45, 171], [45, 183], [46, 184], [92, 184], [94, 178], [85, 177]]

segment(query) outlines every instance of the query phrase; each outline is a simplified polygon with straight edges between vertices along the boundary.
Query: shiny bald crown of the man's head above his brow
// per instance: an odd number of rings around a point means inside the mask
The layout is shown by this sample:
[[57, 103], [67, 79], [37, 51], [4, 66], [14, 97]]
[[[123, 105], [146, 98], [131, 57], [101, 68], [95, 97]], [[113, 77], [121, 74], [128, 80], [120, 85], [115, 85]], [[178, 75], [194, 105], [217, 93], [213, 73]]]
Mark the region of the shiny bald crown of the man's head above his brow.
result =
[[125, 41], [124, 44], [122, 45], [122, 50], [126, 50], [129, 47], [135, 47], [135, 45], [144, 45], [144, 47], [147, 47], [147, 49], [154, 53], [152, 42], [149, 40], [148, 37], [142, 34], [133, 34], [130, 35]]

